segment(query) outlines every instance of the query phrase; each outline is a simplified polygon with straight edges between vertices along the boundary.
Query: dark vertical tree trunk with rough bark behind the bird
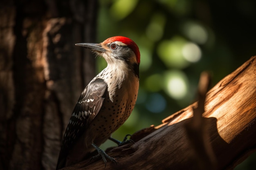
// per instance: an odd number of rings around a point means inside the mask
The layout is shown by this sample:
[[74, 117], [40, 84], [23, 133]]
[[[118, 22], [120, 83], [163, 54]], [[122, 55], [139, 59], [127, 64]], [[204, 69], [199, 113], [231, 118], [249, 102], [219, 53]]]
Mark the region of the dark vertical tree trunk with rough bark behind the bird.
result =
[[[61, 138], [94, 77], [97, 1], [0, 2], [0, 170], [55, 169]], [[86, 56], [85, 58], [83, 58]]]

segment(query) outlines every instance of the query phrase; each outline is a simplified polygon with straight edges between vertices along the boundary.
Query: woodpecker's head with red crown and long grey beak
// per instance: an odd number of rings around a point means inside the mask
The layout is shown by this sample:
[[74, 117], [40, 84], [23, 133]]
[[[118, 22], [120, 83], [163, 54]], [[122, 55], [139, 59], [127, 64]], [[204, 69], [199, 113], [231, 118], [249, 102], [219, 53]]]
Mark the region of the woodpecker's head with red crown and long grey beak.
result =
[[91, 49], [97, 54], [104, 57], [108, 64], [117, 64], [125, 62], [126, 64], [140, 63], [140, 53], [137, 44], [130, 38], [123, 36], [115, 36], [97, 43], [78, 43], [76, 46], [82, 46]]

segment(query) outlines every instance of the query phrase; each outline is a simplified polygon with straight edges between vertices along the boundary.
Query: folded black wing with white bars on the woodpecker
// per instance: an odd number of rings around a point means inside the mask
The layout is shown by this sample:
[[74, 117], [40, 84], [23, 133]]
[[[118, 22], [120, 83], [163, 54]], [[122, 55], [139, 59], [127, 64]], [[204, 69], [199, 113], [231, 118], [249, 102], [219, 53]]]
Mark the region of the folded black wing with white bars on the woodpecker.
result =
[[65, 166], [68, 151], [72, 148], [74, 142], [81, 137], [92, 119], [99, 113], [106, 98], [107, 90], [107, 84], [103, 79], [95, 79], [83, 90], [62, 139], [57, 170]]

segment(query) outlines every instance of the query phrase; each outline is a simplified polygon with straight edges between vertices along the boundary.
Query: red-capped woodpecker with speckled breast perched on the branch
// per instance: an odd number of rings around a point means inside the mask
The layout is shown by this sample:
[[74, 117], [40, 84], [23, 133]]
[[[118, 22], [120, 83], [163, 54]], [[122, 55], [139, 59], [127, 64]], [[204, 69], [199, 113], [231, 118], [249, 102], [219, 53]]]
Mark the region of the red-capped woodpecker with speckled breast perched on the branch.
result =
[[83, 161], [97, 150], [106, 166], [109, 157], [100, 146], [130, 116], [139, 90], [140, 53], [129, 38], [115, 36], [96, 43], [78, 43], [107, 62], [79, 97], [62, 139], [56, 169]]

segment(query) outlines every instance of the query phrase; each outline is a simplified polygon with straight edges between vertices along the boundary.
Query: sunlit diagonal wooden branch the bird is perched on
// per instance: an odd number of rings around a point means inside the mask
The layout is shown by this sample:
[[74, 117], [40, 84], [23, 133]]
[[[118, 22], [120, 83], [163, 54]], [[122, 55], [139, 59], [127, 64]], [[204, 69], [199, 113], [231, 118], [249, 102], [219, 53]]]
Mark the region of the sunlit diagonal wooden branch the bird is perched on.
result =
[[109, 149], [107, 153], [116, 158], [117, 165], [108, 162], [104, 168], [102, 160], [87, 159], [63, 170], [233, 169], [256, 150], [256, 56], [204, 98], [208, 80], [201, 81], [205, 85], [199, 89], [204, 89], [199, 102], [167, 117], [159, 126], [136, 132], [131, 137], [135, 144]]

